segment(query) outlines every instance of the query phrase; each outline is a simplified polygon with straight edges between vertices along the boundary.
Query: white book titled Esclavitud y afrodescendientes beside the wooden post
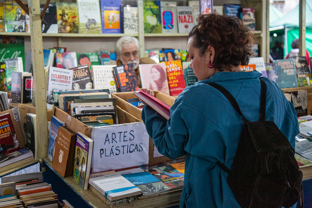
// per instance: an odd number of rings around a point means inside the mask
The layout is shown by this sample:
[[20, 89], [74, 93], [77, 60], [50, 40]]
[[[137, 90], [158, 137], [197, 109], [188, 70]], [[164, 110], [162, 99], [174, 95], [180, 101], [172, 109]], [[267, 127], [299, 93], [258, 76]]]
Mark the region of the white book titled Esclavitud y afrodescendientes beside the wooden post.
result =
[[49, 76], [46, 91], [46, 108], [51, 109], [54, 104], [53, 92], [71, 90], [73, 70], [49, 66]]

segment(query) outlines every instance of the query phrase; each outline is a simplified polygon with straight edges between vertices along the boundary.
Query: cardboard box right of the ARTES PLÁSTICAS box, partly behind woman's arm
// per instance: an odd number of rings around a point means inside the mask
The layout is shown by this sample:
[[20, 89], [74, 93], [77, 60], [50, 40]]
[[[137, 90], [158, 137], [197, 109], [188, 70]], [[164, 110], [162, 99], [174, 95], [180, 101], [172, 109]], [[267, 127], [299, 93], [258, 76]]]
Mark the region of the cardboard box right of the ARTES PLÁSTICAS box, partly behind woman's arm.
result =
[[[164, 103], [172, 106], [174, 103], [175, 98], [172, 96], [169, 96], [167, 94], [164, 94], [162, 92], [158, 91], [153, 91], [154, 96], [157, 99], [160, 99]], [[129, 114], [132, 114], [134, 117], [142, 121], [141, 119], [141, 114], [142, 110], [139, 109], [138, 107], [135, 107], [134, 105], [130, 104], [127, 102], [127, 99], [133, 99], [137, 98], [133, 92], [125, 92], [125, 93], [112, 93], [111, 94], [112, 98], [116, 98], [116, 104]], [[161, 155], [158, 151], [157, 148], [155, 147], [152, 138], [149, 138], [149, 163], [155, 163], [155, 162], [164, 162], [164, 161], [169, 161], [170, 159], [168, 157], [165, 157]]]

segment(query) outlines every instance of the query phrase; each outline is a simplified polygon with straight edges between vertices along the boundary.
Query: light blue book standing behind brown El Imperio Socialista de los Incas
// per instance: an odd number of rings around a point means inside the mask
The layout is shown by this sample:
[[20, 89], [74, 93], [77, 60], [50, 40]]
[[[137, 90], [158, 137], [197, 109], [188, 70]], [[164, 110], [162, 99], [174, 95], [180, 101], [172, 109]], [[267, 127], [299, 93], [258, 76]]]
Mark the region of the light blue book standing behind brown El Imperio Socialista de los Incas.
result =
[[65, 126], [65, 123], [55, 116], [51, 117], [51, 127], [49, 135], [49, 146], [48, 146], [48, 158], [53, 161], [54, 150], [55, 150], [55, 139], [58, 133], [58, 128], [60, 126]]

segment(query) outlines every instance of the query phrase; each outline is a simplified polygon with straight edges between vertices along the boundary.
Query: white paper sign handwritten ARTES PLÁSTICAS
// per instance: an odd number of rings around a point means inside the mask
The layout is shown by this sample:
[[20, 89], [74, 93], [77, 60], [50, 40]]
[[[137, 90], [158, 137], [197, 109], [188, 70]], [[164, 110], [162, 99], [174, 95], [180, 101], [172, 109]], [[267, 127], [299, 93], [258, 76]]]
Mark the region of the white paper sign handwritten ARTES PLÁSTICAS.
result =
[[149, 135], [143, 122], [94, 128], [91, 138], [94, 140], [92, 172], [149, 162]]

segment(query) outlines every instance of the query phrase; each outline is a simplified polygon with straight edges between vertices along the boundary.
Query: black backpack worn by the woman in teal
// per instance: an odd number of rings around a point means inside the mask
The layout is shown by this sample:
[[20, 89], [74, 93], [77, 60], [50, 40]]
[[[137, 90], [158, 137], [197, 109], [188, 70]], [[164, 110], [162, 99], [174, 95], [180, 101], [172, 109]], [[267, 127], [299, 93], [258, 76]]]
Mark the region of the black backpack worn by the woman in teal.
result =
[[242, 208], [289, 208], [298, 202], [303, 208], [302, 172], [294, 157], [295, 150], [273, 121], [266, 118], [266, 85], [262, 79], [259, 121], [250, 122], [225, 88], [218, 89], [229, 100], [245, 122], [231, 170], [217, 162], [228, 173], [227, 183]]

